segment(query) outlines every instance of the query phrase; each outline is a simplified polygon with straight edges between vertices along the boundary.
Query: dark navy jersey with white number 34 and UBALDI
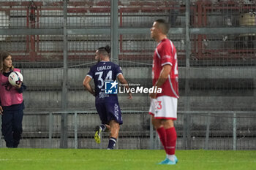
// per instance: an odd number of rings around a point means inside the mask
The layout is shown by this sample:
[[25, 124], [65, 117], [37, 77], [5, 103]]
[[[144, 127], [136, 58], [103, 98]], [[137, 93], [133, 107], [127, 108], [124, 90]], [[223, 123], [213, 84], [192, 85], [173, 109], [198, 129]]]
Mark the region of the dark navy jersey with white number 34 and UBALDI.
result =
[[[105, 81], [115, 81], [116, 77], [122, 74], [121, 67], [111, 61], [100, 61], [91, 69], [87, 76], [94, 79], [95, 96], [99, 98], [105, 97]], [[111, 96], [116, 96], [115, 94]]]

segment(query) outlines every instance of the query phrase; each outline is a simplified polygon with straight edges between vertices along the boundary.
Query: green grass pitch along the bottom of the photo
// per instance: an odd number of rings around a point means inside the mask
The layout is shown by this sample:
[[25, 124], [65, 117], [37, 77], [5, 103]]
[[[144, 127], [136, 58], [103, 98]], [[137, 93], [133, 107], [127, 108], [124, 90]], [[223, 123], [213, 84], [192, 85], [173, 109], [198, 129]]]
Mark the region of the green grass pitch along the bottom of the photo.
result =
[[0, 169], [255, 170], [256, 151], [177, 150], [178, 164], [157, 165], [164, 150], [0, 149]]

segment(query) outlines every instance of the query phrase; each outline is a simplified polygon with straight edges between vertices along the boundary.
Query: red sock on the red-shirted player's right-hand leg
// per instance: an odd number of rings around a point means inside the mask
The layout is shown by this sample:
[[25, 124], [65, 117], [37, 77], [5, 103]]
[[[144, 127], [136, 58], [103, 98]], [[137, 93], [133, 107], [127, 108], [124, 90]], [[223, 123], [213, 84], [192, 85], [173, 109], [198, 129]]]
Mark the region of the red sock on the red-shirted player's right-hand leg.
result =
[[166, 153], [168, 155], [174, 155], [175, 154], [175, 147], [176, 147], [176, 139], [177, 134], [174, 127], [165, 129], [166, 133]]

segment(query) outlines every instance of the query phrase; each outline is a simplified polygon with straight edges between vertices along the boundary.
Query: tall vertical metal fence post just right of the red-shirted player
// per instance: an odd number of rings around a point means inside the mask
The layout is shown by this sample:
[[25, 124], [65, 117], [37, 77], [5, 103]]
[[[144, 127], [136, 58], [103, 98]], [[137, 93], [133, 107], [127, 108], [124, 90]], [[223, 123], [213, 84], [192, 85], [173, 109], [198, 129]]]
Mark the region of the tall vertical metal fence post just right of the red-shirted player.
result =
[[[186, 72], [185, 72], [185, 110], [190, 110], [190, 98], [189, 98], [189, 58], [191, 53], [190, 38], [189, 38], [189, 19], [190, 19], [190, 4], [189, 0], [186, 0]], [[183, 147], [184, 149], [190, 149], [191, 135], [190, 135], [190, 115], [184, 115], [184, 131], [183, 131]]]

